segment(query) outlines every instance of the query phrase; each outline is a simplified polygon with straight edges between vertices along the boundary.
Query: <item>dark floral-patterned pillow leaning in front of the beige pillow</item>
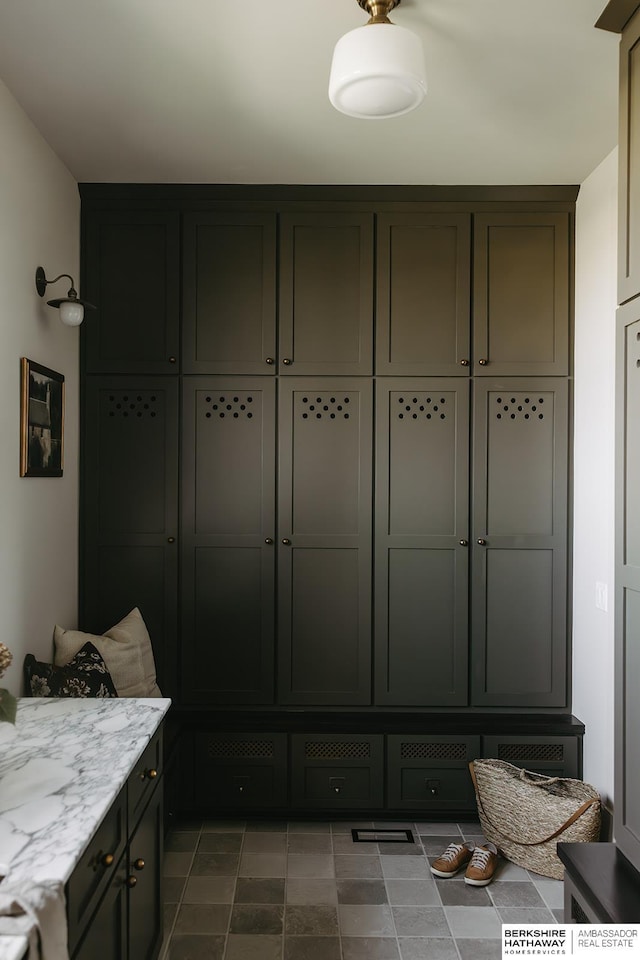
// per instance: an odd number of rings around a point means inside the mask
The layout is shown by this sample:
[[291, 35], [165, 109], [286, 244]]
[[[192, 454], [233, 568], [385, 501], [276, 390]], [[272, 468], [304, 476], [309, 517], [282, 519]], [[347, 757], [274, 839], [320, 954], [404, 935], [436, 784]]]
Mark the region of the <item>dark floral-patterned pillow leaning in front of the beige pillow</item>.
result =
[[24, 658], [26, 695], [31, 697], [117, 697], [111, 674], [92, 643], [85, 643], [64, 667]]

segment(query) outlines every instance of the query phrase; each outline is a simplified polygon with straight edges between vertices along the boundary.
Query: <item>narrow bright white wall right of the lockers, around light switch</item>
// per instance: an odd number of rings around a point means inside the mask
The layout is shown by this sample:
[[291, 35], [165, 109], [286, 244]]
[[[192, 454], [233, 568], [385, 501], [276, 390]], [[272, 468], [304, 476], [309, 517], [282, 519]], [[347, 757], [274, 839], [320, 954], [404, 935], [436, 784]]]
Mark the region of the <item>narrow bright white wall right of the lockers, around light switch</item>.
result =
[[[614, 383], [617, 249], [614, 150], [576, 210], [573, 712], [584, 722], [584, 779], [613, 797]], [[596, 607], [606, 584], [607, 610]]]

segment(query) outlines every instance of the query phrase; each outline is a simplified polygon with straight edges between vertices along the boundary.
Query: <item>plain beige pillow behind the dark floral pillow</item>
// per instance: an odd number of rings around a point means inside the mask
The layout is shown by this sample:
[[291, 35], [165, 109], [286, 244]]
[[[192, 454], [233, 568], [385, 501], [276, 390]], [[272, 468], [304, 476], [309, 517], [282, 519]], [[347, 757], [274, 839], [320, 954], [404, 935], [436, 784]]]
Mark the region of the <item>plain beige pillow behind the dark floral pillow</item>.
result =
[[93, 643], [107, 665], [119, 697], [161, 697], [151, 640], [142, 614], [135, 607], [102, 636], [64, 630], [53, 632], [55, 664], [65, 666], [85, 643]]

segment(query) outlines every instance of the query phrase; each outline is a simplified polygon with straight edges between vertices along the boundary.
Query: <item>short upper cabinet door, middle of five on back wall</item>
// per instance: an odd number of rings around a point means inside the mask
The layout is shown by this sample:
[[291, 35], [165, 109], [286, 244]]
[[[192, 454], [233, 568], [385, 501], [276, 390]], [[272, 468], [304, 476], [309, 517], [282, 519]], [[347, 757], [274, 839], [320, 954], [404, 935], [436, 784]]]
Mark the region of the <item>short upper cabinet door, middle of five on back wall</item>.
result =
[[372, 373], [373, 214], [280, 221], [280, 373]]

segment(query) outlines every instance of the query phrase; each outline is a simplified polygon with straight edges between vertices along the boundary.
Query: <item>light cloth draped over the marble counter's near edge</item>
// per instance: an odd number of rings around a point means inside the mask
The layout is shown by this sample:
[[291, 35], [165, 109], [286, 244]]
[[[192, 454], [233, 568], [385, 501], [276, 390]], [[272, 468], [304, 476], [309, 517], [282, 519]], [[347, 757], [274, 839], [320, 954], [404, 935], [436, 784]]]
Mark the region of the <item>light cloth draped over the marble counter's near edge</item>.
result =
[[69, 960], [64, 884], [5, 879], [0, 884], [0, 934], [26, 936], [29, 960]]

